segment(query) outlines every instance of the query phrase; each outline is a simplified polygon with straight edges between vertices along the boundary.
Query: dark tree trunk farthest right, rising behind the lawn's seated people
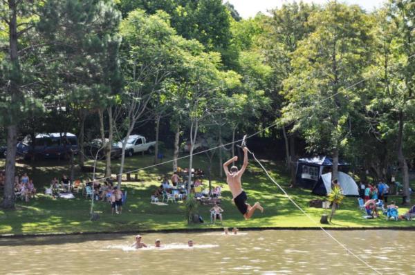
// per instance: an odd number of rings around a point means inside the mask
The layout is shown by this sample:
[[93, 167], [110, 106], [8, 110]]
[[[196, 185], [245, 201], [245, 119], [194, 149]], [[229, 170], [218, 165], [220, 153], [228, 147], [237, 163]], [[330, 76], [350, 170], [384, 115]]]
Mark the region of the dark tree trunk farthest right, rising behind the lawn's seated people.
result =
[[405, 155], [403, 155], [403, 124], [405, 121], [405, 115], [403, 111], [399, 113], [399, 130], [398, 130], [398, 160], [400, 165], [400, 171], [402, 172], [403, 180], [403, 204], [410, 205], [411, 198], [409, 196], [409, 171], [407, 160]]

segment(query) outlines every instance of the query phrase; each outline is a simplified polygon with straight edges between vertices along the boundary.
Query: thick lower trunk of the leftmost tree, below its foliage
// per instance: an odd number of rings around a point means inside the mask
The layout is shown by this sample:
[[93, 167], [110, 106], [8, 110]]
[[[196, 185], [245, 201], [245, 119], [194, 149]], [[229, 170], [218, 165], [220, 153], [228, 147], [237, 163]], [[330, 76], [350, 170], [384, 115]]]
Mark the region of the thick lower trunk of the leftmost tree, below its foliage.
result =
[[17, 126], [7, 127], [7, 155], [6, 155], [6, 181], [4, 182], [4, 194], [1, 207], [5, 209], [15, 208], [15, 163], [16, 163]]

